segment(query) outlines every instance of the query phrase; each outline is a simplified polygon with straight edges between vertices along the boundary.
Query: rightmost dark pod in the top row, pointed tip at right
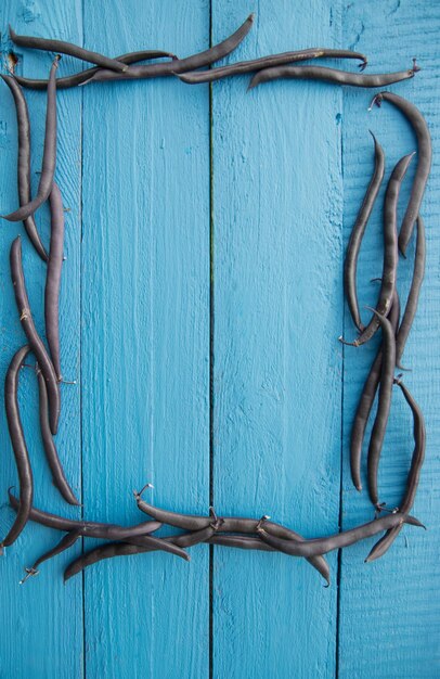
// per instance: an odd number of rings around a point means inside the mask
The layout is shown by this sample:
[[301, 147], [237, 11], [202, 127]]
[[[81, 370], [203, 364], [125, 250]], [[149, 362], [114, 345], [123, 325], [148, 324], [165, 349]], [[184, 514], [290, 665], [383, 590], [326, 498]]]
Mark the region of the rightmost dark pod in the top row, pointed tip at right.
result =
[[360, 74], [326, 66], [276, 66], [263, 68], [255, 74], [250, 80], [249, 90], [262, 82], [272, 80], [321, 80], [333, 85], [349, 85], [352, 87], [386, 87], [392, 82], [400, 82], [413, 78], [418, 67], [399, 71], [398, 73]]

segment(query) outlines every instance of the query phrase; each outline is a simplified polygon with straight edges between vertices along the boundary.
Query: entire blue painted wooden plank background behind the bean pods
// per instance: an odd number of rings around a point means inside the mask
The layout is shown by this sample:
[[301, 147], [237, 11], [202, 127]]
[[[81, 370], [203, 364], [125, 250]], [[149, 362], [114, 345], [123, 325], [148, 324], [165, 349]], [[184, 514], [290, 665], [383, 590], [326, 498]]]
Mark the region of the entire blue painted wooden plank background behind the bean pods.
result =
[[[424, 201], [428, 267], [405, 355], [406, 383], [426, 413], [428, 446], [414, 513], [379, 562], [372, 542], [329, 555], [324, 589], [307, 563], [206, 546], [186, 564], [166, 554], [105, 562], [63, 585], [82, 547], [29, 565], [59, 539], [29, 525], [1, 560], [3, 678], [415, 678], [440, 676], [440, 94], [435, 0], [3, 0], [17, 33], [118, 54], [163, 48], [190, 54], [223, 39], [251, 12], [253, 31], [229, 61], [302, 47], [364, 51], [368, 69], [423, 71], [392, 89], [426, 115], [433, 166]], [[46, 53], [18, 50], [18, 72], [46, 77]], [[4, 64], [3, 64], [4, 67]], [[60, 75], [77, 67], [63, 59]], [[350, 66], [351, 67], [351, 66]], [[171, 79], [92, 85], [59, 94], [56, 179], [66, 213], [61, 300], [63, 413], [60, 453], [83, 510], [50, 484], [36, 384], [21, 406], [36, 504], [69, 516], [132, 523], [131, 490], [187, 512], [270, 513], [306, 536], [372, 517], [348, 469], [350, 423], [375, 351], [353, 336], [342, 299], [342, 257], [372, 171], [368, 128], [388, 171], [414, 149], [389, 105], [367, 113], [371, 91], [248, 78], [189, 87]], [[38, 181], [44, 94], [28, 92]], [[0, 210], [16, 207], [16, 123], [0, 97]], [[405, 182], [410, 187], [411, 177]], [[406, 193], [407, 194], [407, 193]], [[37, 222], [48, 241], [48, 212]], [[0, 375], [24, 337], [0, 231]], [[44, 267], [24, 239], [24, 266], [42, 330]], [[411, 249], [410, 255], [412, 255]], [[362, 303], [380, 272], [380, 215], [360, 266]], [[411, 256], [401, 262], [404, 293]], [[411, 420], [394, 399], [380, 485], [399, 498], [412, 452]], [[0, 409], [0, 528], [12, 521], [16, 471]], [[88, 542], [85, 548], [89, 548]]]

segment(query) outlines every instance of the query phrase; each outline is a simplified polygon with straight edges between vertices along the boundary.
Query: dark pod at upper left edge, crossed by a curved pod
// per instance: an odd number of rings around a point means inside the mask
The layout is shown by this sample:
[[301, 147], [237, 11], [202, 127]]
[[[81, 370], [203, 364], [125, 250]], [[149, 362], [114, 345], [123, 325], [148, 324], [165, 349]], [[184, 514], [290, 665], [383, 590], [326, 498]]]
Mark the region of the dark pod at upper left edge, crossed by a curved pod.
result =
[[[12, 76], [1, 76], [12, 92], [15, 102], [17, 128], [18, 128], [18, 164], [17, 183], [20, 206], [27, 205], [31, 201], [30, 194], [30, 123], [27, 103], [22, 88]], [[40, 235], [35, 223], [34, 215], [23, 220], [23, 226], [29, 236], [29, 241], [43, 261], [48, 260], [48, 253], [41, 243]]]

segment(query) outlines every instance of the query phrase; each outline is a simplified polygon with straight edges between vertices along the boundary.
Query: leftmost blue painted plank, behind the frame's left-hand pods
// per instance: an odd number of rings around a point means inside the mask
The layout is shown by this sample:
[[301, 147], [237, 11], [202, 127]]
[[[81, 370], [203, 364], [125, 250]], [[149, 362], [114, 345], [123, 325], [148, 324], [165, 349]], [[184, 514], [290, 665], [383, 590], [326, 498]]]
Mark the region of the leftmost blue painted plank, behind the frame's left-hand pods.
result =
[[[2, 33], [2, 56], [12, 44], [8, 41], [8, 24], [17, 33], [53, 36], [74, 40], [81, 44], [81, 2], [68, 4], [50, 0], [39, 3], [22, 3], [7, 0], [0, 8]], [[47, 77], [51, 56], [43, 52], [20, 50], [18, 72], [34, 77]], [[2, 65], [3, 65], [2, 57]], [[63, 59], [60, 75], [74, 67], [74, 60]], [[33, 131], [31, 181], [36, 189], [38, 170], [41, 166], [44, 137], [46, 95], [42, 92], [26, 92]], [[66, 379], [76, 379], [79, 370], [79, 249], [80, 249], [80, 129], [81, 102], [74, 92], [59, 94], [60, 163], [56, 180], [63, 194], [66, 213], [67, 257], [63, 269], [61, 294], [62, 367]], [[15, 108], [7, 87], [1, 84], [1, 172], [0, 210], [2, 214], [17, 207], [16, 190], [16, 123]], [[49, 240], [49, 213], [44, 206], [37, 213], [37, 223], [46, 244]], [[23, 256], [26, 283], [38, 330], [43, 335], [43, 294], [46, 267], [28, 243], [23, 226], [4, 222], [0, 231], [0, 318], [1, 354], [0, 380], [13, 353], [25, 343], [12, 291], [9, 269], [9, 251], [17, 233], [23, 235]], [[79, 387], [62, 385], [62, 417], [56, 444], [64, 462], [66, 474], [80, 495], [80, 421]], [[3, 400], [3, 397], [2, 397]], [[20, 403], [27, 435], [29, 454], [35, 475], [35, 502], [49, 511], [78, 516], [79, 510], [66, 509], [66, 504], [51, 484], [50, 472], [39, 435], [37, 419], [38, 393], [36, 377], [24, 370], [21, 377]], [[0, 487], [3, 510], [1, 534], [11, 526], [13, 513], [7, 509], [7, 488], [17, 484], [12, 448], [9, 440], [4, 409], [0, 409]], [[68, 590], [64, 588], [62, 573], [72, 559], [63, 555], [43, 564], [37, 578], [18, 587], [24, 566], [29, 566], [42, 552], [53, 547], [61, 534], [29, 524], [20, 539], [7, 550], [1, 559], [0, 625], [0, 675], [2, 677], [65, 678], [82, 676], [82, 584], [77, 580]]]

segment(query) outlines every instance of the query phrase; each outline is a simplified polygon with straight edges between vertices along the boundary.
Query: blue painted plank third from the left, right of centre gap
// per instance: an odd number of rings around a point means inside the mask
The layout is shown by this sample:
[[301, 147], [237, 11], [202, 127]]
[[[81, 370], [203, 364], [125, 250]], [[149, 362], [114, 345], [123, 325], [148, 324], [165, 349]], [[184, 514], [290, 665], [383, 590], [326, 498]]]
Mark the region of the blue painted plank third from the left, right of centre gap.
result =
[[[213, 41], [253, 10], [231, 57], [337, 47], [340, 12], [213, 2]], [[337, 530], [342, 294], [341, 91], [248, 77], [212, 87], [215, 505]], [[282, 554], [215, 549], [213, 677], [329, 677], [333, 587]]]

